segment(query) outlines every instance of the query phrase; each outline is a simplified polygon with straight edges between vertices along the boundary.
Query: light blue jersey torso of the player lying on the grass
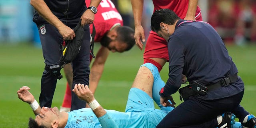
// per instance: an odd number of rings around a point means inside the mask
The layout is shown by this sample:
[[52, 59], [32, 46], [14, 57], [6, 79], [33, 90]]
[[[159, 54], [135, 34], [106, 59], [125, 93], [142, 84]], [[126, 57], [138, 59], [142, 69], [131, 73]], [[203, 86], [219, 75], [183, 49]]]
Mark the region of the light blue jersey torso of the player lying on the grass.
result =
[[[156, 110], [158, 111], [158, 110]], [[115, 110], [106, 110], [119, 128], [155, 128], [168, 112], [159, 112], [160, 115], [153, 120], [152, 112], [118, 112]], [[68, 123], [65, 128], [102, 128], [98, 118], [90, 108], [83, 108], [72, 111], [68, 114]]]

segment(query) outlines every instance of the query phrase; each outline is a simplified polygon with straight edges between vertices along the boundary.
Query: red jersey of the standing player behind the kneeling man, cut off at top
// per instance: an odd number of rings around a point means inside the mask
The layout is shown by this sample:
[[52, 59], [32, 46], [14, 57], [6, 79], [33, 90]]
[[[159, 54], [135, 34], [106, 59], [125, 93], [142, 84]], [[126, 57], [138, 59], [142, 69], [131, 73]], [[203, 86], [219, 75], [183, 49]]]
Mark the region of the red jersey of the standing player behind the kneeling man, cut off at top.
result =
[[[188, 11], [188, 0], [152, 0], [154, 11], [162, 8], [168, 8], [174, 11], [181, 19], [184, 19]], [[87, 5], [87, 4], [86, 4]], [[196, 8], [196, 16], [200, 14], [199, 6]]]

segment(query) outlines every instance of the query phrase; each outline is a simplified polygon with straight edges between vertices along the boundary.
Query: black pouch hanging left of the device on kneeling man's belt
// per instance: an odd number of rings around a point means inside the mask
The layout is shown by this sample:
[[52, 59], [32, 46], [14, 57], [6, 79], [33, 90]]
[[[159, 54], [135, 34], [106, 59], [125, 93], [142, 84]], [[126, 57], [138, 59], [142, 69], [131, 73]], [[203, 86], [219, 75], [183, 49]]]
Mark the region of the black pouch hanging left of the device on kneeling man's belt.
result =
[[181, 101], [182, 101], [182, 99], [184, 101], [188, 100], [190, 96], [198, 96], [198, 94], [194, 90], [192, 90], [191, 85], [180, 88], [179, 93], [180, 93]]

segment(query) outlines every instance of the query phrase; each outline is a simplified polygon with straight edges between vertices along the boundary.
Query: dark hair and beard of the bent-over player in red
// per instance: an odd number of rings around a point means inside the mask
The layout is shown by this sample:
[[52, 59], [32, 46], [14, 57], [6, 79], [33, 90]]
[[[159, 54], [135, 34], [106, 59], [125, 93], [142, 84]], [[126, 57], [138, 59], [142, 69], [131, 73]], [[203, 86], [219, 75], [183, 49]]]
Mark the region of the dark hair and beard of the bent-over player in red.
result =
[[[118, 42], [127, 44], [125, 51], [130, 50], [135, 44], [134, 30], [129, 26], [120, 26], [116, 29], [116, 32], [118, 33], [116, 40], [118, 40]], [[104, 47], [108, 47], [111, 41], [112, 40], [107, 36], [107, 34], [105, 34], [102, 37], [100, 44]]]

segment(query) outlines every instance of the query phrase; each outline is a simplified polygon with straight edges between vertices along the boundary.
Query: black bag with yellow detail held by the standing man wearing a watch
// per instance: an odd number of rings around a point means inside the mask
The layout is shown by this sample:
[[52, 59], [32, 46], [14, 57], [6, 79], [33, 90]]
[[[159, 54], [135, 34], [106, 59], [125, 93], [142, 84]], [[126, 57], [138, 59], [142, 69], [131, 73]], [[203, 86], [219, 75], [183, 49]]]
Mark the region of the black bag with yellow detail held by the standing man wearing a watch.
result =
[[61, 68], [63, 68], [65, 64], [72, 62], [72, 60], [76, 58], [76, 55], [80, 51], [82, 39], [84, 36], [84, 28], [81, 26], [81, 20], [74, 28], [74, 32], [76, 37], [73, 40], [65, 40], [66, 45], [63, 48], [63, 53], [59, 62]]

